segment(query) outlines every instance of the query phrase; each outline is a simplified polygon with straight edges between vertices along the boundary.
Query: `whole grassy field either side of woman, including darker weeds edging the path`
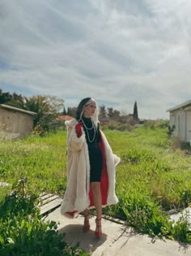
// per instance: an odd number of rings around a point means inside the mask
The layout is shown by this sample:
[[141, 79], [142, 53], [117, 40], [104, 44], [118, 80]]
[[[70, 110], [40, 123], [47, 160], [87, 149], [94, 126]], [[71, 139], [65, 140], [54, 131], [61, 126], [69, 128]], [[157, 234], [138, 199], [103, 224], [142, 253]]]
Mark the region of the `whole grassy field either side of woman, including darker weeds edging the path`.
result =
[[[116, 175], [119, 203], [106, 207], [104, 213], [127, 219], [140, 232], [189, 241], [188, 228], [184, 238], [170, 231], [173, 223], [169, 223], [163, 210], [184, 208], [191, 202], [190, 151], [175, 146], [166, 128], [142, 127], [131, 132], [105, 129], [104, 133], [113, 153], [121, 157]], [[2, 142], [0, 181], [14, 184], [21, 176], [27, 177], [28, 187], [34, 193], [63, 194], [66, 131]], [[1, 197], [9, 189], [1, 188]]]

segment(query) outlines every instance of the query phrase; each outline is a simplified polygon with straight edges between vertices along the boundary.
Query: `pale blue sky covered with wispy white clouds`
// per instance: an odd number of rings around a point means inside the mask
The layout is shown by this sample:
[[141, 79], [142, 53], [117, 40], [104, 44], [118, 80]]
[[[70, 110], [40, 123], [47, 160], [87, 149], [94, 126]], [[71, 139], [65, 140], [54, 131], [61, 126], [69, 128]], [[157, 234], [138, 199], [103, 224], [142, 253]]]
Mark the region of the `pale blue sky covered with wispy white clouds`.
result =
[[190, 0], [1, 0], [0, 89], [140, 119], [191, 99]]

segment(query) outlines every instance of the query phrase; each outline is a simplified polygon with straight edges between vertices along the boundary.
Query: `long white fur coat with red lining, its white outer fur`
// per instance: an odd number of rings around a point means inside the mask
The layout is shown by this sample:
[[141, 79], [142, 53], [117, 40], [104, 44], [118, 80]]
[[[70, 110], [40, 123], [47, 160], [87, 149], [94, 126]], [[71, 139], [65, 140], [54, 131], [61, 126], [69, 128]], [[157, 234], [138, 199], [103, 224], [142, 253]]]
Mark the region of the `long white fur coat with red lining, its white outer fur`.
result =
[[[90, 163], [85, 132], [81, 137], [76, 136], [76, 119], [66, 121], [67, 127], [67, 188], [61, 206], [62, 215], [71, 217], [68, 212], [76, 211], [75, 215], [90, 206]], [[101, 132], [101, 131], [100, 131]], [[108, 197], [107, 205], [118, 202], [115, 193], [115, 167], [120, 162], [117, 155], [112, 154], [104, 133], [101, 132], [104, 141], [106, 165], [108, 171]], [[73, 216], [73, 217], [74, 217]]]

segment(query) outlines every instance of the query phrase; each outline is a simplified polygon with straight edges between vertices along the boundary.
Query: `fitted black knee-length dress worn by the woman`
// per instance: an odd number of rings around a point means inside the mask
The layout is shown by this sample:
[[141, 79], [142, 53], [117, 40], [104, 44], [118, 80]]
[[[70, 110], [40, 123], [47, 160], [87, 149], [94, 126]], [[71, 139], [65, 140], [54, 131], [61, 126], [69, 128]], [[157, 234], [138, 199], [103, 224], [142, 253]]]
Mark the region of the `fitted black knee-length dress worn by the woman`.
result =
[[103, 158], [100, 147], [99, 127], [96, 128], [91, 118], [83, 117], [83, 129], [86, 135], [86, 141], [90, 159], [90, 182], [100, 182]]

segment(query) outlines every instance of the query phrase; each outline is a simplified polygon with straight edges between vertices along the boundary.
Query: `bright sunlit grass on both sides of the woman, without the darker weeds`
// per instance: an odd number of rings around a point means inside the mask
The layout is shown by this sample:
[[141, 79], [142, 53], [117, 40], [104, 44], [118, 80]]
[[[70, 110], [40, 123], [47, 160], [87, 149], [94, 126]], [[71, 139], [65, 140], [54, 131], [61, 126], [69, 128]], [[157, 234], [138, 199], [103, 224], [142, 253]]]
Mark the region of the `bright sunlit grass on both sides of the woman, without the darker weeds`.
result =
[[[115, 154], [117, 194], [136, 190], [152, 197], [165, 209], [191, 202], [191, 157], [172, 150], [167, 131], [137, 128], [131, 132], [104, 131]], [[66, 131], [45, 137], [5, 141], [0, 145], [0, 180], [14, 184], [27, 176], [38, 191], [64, 193], [66, 189]]]

